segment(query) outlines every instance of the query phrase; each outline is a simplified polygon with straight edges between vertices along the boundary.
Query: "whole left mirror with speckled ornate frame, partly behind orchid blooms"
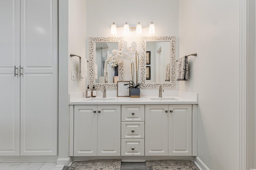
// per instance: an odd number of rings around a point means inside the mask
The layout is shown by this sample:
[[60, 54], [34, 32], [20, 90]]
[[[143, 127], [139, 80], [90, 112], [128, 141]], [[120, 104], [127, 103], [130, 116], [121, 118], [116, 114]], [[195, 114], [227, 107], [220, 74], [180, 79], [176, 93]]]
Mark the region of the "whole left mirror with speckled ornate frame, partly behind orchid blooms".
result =
[[[95, 88], [117, 88], [116, 80], [123, 80], [123, 62], [118, 67], [110, 67], [106, 63], [107, 51], [121, 50], [122, 37], [89, 37], [89, 86]], [[118, 78], [117, 78], [118, 76]]]

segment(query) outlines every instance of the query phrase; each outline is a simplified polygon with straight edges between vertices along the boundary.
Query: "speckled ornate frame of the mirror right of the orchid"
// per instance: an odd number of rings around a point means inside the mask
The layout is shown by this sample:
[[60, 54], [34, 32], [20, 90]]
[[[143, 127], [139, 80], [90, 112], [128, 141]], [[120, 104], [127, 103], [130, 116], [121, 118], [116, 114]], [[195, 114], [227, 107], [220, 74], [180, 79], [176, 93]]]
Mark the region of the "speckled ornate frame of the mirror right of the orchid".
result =
[[[168, 41], [170, 42], [170, 82], [169, 83], [160, 83], [160, 82], [146, 82], [146, 42], [154, 41]], [[142, 47], [142, 57], [141, 57], [141, 83], [143, 88], [158, 88], [160, 85], [164, 88], [175, 88], [176, 78], [175, 78], [175, 68], [176, 68], [176, 37], [175, 36], [161, 36], [161, 37], [142, 37], [141, 38], [141, 47]]]

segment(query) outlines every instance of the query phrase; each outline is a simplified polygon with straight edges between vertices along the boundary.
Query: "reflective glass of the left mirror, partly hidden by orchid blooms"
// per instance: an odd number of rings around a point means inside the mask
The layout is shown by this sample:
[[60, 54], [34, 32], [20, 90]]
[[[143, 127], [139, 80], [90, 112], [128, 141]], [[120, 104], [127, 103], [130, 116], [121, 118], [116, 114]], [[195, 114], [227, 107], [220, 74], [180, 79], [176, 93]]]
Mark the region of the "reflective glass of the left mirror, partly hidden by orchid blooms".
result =
[[114, 83], [118, 80], [118, 66], [108, 65], [107, 53], [118, 49], [118, 42], [96, 42], [95, 43], [95, 69], [94, 83]]

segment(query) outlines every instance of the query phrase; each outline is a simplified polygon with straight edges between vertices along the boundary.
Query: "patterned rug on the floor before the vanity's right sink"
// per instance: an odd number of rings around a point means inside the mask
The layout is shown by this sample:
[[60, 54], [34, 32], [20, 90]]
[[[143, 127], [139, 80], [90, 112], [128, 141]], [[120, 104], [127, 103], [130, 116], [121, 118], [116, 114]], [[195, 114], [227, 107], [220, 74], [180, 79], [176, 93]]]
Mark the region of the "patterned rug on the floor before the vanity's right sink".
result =
[[146, 160], [146, 170], [199, 170], [191, 160]]

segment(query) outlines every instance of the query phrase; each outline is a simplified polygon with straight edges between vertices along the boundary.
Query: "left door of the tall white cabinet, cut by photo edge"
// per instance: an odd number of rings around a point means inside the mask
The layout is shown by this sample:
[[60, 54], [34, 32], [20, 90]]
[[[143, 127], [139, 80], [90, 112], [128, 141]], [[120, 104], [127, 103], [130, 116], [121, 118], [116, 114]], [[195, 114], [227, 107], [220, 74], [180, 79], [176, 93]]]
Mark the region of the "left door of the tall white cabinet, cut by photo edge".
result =
[[[0, 1], [0, 156], [20, 155], [20, 1]], [[16, 70], [18, 73], [18, 70]]]

